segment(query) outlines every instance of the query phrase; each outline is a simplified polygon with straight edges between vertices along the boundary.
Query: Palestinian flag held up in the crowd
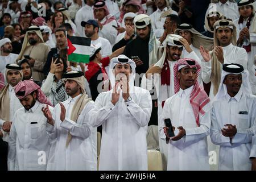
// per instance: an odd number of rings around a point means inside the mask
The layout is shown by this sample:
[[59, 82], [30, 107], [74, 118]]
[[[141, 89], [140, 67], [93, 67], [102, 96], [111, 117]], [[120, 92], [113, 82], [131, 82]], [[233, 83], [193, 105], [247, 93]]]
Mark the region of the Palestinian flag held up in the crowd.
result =
[[90, 38], [68, 36], [68, 61], [89, 63]]

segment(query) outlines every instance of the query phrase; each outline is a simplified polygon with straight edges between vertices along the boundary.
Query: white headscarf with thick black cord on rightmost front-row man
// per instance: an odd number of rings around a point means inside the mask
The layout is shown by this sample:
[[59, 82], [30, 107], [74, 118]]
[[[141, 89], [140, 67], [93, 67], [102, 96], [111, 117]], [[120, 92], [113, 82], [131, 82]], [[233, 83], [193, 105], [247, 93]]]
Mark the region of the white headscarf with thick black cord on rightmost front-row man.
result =
[[214, 100], [218, 100], [221, 97], [225, 96], [228, 93], [228, 89], [226, 88], [226, 85], [223, 84], [223, 81], [227, 75], [234, 74], [239, 75], [242, 74], [242, 85], [240, 90], [243, 94], [252, 94], [251, 92], [251, 86], [249, 82], [249, 72], [247, 69], [243, 69], [243, 66], [240, 64], [224, 64], [222, 68], [221, 73], [221, 82], [220, 86], [218, 87], [218, 93], [214, 97]]

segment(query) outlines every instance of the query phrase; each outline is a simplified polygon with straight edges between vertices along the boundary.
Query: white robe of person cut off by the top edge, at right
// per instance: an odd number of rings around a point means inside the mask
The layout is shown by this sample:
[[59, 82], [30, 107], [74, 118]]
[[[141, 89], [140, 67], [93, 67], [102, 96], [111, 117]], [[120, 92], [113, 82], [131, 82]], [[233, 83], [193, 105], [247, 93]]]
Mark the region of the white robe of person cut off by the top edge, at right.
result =
[[218, 11], [222, 15], [226, 16], [226, 18], [230, 18], [232, 20], [239, 18], [237, 3], [230, 2], [229, 0], [225, 4], [222, 4], [221, 2], [210, 3], [205, 16], [207, 16], [211, 11]]

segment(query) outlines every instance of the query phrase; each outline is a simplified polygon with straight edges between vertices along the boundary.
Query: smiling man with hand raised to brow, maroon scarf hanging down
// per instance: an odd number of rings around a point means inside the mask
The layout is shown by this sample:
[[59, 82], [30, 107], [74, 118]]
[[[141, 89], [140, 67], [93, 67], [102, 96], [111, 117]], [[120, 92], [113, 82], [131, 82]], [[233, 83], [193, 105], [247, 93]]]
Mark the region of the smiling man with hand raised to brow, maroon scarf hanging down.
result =
[[167, 35], [163, 56], [142, 77], [142, 88], [150, 91], [155, 86], [156, 95], [158, 96], [159, 147], [163, 154], [164, 169], [167, 167], [168, 145], [166, 144], [166, 136], [163, 132], [164, 125], [160, 121], [160, 115], [163, 111], [164, 102], [174, 95], [174, 64], [180, 59], [184, 51], [183, 47], [189, 52], [187, 58], [198, 60], [198, 63], [200, 63], [199, 57], [192, 51], [187, 40], [179, 35], [171, 34]]

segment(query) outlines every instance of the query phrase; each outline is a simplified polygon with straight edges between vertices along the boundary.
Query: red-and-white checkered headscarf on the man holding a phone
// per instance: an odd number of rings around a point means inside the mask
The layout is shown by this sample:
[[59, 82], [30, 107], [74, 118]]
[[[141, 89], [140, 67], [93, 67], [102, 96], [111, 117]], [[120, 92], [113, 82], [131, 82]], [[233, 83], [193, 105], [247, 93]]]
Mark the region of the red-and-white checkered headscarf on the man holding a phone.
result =
[[[195, 61], [195, 65], [189, 65], [187, 61]], [[180, 65], [187, 65], [189, 68], [196, 67], [197, 69], [197, 77], [200, 74], [201, 67], [200, 64], [197, 63], [196, 60], [193, 59], [180, 59], [177, 61], [177, 63], [174, 64], [174, 75], [177, 75], [178, 69]], [[180, 80], [175, 76], [174, 78], [174, 92], [175, 94], [179, 92], [180, 90]], [[199, 113], [201, 115], [205, 114], [204, 107], [210, 102], [210, 98], [207, 96], [207, 93], [205, 93], [204, 89], [199, 85], [199, 82], [196, 80], [196, 83], [194, 85], [194, 88], [190, 94], [190, 104], [193, 109], [193, 113], [196, 118], [196, 124], [197, 126], [200, 126], [199, 122]]]

